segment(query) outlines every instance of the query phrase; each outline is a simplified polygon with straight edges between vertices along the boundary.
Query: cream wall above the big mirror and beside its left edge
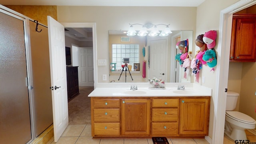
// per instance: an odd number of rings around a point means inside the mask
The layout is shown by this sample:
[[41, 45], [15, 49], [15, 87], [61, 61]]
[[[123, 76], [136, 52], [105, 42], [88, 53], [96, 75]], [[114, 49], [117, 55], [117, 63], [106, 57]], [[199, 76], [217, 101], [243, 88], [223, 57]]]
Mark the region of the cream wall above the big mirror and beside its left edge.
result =
[[[130, 24], [170, 24], [171, 30], [196, 28], [196, 7], [58, 6], [58, 22], [96, 22], [97, 59], [109, 60], [108, 30], [128, 30]], [[98, 82], [109, 67], [98, 66]]]

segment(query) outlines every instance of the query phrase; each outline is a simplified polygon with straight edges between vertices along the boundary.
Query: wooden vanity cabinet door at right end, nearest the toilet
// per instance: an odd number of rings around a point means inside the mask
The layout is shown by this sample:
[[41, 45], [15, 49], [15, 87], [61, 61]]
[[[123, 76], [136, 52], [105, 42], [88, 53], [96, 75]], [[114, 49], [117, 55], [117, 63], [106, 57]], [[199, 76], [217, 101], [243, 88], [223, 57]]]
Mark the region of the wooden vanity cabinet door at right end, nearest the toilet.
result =
[[180, 99], [180, 135], [208, 135], [210, 99]]

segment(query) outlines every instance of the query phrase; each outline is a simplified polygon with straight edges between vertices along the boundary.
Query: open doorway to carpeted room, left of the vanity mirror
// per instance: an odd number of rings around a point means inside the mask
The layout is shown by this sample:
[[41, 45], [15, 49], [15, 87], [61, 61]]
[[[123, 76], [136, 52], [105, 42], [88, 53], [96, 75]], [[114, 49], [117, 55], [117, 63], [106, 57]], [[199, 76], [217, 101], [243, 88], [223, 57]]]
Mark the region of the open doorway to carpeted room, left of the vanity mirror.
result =
[[[68, 102], [68, 112], [69, 112], [68, 115], [70, 117], [69, 124], [88, 124], [90, 122], [90, 98], [88, 98], [88, 94], [90, 94], [90, 92], [94, 90], [95, 82], [97, 82], [96, 23], [61, 23], [61, 24], [65, 28], [74, 28], [78, 31], [79, 29], [82, 29], [82, 28], [90, 28], [92, 31], [92, 45], [80, 45], [83, 47], [78, 46], [78, 57], [76, 58], [78, 60], [77, 66], [79, 66], [78, 71], [81, 72], [81, 74], [79, 74], [80, 75], [79, 79], [83, 80], [83, 78], [86, 78], [86, 80], [89, 80], [90, 84], [89, 85], [79, 84], [80, 94], [76, 96], [76, 98]], [[83, 54], [83, 52], [85, 52], [85, 54]], [[87, 64], [81, 63], [81, 60], [85, 62], [83, 58], [86, 58]], [[88, 64], [89, 64], [89, 67], [91, 68], [91, 70], [89, 70], [90, 72], [88, 72], [90, 74], [88, 75], [88, 73], [84, 72], [84, 76], [86, 75], [87, 76], [82, 78], [83, 72], [80, 68], [83, 68], [82, 65], [88, 67]], [[84, 123], [81, 123], [81, 122], [84, 122]]]

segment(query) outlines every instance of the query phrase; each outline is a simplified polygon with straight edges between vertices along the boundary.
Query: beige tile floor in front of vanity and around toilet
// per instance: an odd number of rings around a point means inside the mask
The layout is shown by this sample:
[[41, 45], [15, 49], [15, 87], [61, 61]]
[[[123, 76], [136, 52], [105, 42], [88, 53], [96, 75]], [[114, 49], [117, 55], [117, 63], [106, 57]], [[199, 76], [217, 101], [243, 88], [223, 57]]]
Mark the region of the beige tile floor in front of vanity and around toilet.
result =
[[[92, 139], [91, 125], [68, 125], [58, 142], [52, 138], [47, 144], [153, 144], [152, 139]], [[256, 142], [256, 136], [246, 131], [250, 142]], [[209, 144], [205, 139], [168, 138], [170, 144]], [[223, 144], [235, 144], [224, 135]]]

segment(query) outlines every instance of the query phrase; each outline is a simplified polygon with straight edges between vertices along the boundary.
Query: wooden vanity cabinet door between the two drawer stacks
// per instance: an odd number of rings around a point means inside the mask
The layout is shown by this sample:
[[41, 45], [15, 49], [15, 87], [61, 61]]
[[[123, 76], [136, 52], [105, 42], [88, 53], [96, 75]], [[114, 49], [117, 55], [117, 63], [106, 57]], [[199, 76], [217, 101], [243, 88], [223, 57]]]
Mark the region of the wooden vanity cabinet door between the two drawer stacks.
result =
[[145, 136], [150, 134], [150, 100], [122, 100], [122, 134]]

